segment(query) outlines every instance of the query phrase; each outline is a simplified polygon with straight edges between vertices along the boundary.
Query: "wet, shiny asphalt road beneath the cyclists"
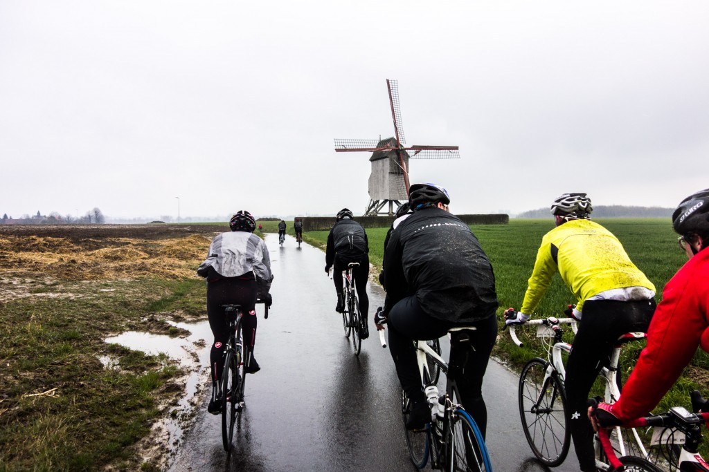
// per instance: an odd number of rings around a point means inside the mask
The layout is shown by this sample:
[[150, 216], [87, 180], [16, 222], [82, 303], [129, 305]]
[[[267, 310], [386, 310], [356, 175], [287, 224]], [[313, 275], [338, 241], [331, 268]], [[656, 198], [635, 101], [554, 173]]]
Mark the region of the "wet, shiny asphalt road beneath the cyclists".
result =
[[[206, 412], [205, 396], [171, 470], [414, 471], [401, 422], [400, 386], [372, 316], [372, 336], [355, 357], [334, 310], [335, 288], [325, 275], [323, 251], [305, 243], [298, 249], [290, 236], [283, 248], [276, 235], [269, 234], [267, 244], [274, 304], [265, 320], [257, 306], [255, 357], [262, 369], [247, 377], [233, 451], [225, 453], [221, 417]], [[371, 282], [368, 292], [374, 313], [384, 292]], [[443, 338], [444, 351], [445, 344]], [[501, 364], [490, 362], [483, 395], [493, 470], [578, 470], [573, 447], [557, 468], [535, 460], [520, 427], [517, 381]]]

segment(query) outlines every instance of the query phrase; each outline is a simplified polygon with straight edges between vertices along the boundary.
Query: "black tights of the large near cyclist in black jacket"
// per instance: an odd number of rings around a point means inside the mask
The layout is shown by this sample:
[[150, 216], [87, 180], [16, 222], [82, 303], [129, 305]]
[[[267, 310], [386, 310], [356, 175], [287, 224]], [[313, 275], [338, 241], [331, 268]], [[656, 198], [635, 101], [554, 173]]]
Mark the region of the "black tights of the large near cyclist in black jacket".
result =
[[[415, 296], [398, 301], [389, 312], [389, 352], [396, 366], [401, 388], [414, 402], [425, 401], [416, 362], [416, 350], [411, 340], [431, 340], [444, 336], [456, 324], [428, 316]], [[456, 351], [454, 362], [459, 364], [456, 383], [460, 403], [477, 423], [483, 436], [487, 425], [487, 408], [482, 395], [483, 376], [492, 347], [497, 338], [497, 320], [489, 316], [480, 321], [462, 323], [475, 326], [468, 331], [471, 343]], [[474, 349], [473, 349], [474, 348]]]

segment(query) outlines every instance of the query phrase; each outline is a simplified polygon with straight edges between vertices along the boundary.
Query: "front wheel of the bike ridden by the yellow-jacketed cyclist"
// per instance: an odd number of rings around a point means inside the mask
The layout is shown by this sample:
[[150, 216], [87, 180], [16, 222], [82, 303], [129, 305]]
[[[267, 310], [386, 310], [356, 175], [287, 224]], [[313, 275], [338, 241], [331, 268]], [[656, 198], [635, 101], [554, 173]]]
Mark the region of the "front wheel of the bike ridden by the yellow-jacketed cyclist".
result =
[[556, 375], [547, 378], [547, 362], [532, 359], [520, 375], [518, 401], [527, 442], [537, 459], [555, 467], [569, 453], [571, 431], [566, 420], [566, 395]]

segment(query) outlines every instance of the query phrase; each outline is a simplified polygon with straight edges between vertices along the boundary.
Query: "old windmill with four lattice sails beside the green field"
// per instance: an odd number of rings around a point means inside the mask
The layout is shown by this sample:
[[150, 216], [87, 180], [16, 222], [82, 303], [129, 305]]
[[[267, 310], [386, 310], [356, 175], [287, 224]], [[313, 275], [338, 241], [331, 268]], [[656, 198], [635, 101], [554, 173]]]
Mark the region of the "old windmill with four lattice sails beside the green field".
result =
[[[371, 152], [372, 173], [369, 175], [369, 205], [365, 216], [393, 215], [402, 201], [408, 201], [409, 159], [459, 159], [458, 146], [410, 146], [401, 127], [401, 108], [395, 80], [386, 79], [389, 105], [394, 122], [394, 136], [386, 139], [335, 139], [337, 152]], [[382, 212], [386, 204], [389, 211]]]

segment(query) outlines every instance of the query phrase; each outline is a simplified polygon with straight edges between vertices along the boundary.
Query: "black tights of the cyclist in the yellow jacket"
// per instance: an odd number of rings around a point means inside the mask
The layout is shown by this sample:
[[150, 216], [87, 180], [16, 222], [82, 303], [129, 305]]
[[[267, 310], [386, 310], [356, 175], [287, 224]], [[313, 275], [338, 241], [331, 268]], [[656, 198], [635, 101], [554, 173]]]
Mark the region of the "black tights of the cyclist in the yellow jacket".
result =
[[[566, 362], [566, 413], [581, 471], [596, 471], [593, 430], [586, 410], [589, 392], [602, 367], [610, 364], [615, 340], [632, 331], [647, 331], [655, 301], [588, 300], [579, 332]], [[620, 374], [620, 372], [618, 373]]]

